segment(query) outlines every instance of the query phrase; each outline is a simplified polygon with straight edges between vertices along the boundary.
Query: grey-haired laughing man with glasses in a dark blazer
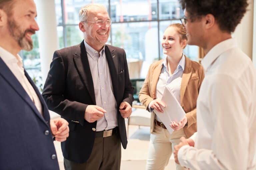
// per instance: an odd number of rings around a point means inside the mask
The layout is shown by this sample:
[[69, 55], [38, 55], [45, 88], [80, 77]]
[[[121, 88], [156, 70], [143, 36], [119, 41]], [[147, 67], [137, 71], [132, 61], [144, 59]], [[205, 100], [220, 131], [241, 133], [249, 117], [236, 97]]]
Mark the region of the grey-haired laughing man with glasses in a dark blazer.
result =
[[79, 18], [84, 41], [54, 52], [43, 97], [69, 122], [61, 143], [65, 169], [120, 169], [133, 101], [126, 54], [105, 44], [112, 22], [104, 6], [89, 4]]

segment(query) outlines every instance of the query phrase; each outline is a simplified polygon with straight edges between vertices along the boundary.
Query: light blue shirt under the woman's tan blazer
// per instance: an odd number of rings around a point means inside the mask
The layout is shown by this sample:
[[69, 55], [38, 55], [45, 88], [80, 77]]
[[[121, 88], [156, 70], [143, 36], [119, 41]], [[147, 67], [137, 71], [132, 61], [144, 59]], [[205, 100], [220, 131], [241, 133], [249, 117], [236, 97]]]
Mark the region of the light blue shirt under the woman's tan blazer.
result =
[[[167, 67], [167, 56], [165, 57], [165, 59], [163, 60], [163, 63], [162, 63], [161, 73], [159, 75], [159, 79], [158, 79], [158, 82], [156, 85], [156, 98], [157, 99], [162, 98], [164, 89], [166, 87], [173, 93], [175, 98], [180, 103], [180, 86], [181, 86], [181, 80], [182, 80], [182, 74], [183, 74], [184, 68], [185, 68], [185, 56], [183, 54], [176, 70], [173, 72], [172, 75], [170, 75], [168, 72], [168, 67]], [[152, 112], [153, 109], [150, 109], [150, 111]], [[157, 115], [156, 115], [156, 120], [159, 122], [162, 122], [157, 117]]]

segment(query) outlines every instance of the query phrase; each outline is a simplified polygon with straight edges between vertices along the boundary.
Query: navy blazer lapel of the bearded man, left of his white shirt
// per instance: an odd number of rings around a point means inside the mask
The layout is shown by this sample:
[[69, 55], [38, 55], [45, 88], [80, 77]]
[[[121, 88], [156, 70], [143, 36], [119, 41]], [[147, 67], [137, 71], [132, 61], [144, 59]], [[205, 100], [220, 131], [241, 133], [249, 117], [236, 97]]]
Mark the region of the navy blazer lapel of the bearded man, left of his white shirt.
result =
[[[10, 86], [13, 88], [14, 91], [18, 93], [18, 95], [31, 107], [31, 109], [34, 111], [34, 113], [43, 121], [42, 115], [38, 112], [35, 104], [32, 102], [31, 98], [25, 91], [25, 89], [22, 87], [20, 82], [17, 80], [17, 78], [14, 76], [14, 74], [11, 72], [9, 67], [4, 63], [4, 61], [0, 58], [0, 74], [4, 77], [4, 79], [10, 84]], [[32, 81], [30, 78], [28, 78], [29, 81]], [[30, 82], [31, 83], [31, 82]], [[45, 122], [46, 123], [46, 122]]]

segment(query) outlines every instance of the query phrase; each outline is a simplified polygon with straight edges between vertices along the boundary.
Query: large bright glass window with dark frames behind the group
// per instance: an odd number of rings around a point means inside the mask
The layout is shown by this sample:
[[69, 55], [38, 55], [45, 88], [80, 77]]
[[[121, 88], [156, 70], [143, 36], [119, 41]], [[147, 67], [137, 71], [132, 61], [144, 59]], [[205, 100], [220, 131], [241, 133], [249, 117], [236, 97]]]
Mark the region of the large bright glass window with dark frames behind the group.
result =
[[[55, 0], [59, 47], [83, 40], [78, 13], [89, 3], [103, 4], [113, 21], [108, 44], [124, 48], [130, 78], [145, 78], [148, 67], [164, 57], [161, 39], [168, 25], [180, 23], [183, 11], [178, 0]], [[61, 14], [59, 13], [61, 11]], [[190, 46], [184, 53], [198, 60], [198, 47]]]

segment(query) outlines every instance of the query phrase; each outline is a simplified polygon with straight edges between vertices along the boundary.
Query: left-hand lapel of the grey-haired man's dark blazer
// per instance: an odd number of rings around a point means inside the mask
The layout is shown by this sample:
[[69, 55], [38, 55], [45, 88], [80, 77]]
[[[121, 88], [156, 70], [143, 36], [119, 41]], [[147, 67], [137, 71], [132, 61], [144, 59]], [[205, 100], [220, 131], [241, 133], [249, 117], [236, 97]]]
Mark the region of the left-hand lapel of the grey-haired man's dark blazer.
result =
[[96, 105], [96, 99], [94, 94], [92, 73], [90, 70], [90, 65], [88, 61], [87, 52], [85, 49], [84, 41], [80, 44], [79, 49], [73, 54], [74, 62], [77, 67], [77, 70], [82, 77], [82, 80], [88, 89], [88, 92], [91, 96], [93, 103]]

